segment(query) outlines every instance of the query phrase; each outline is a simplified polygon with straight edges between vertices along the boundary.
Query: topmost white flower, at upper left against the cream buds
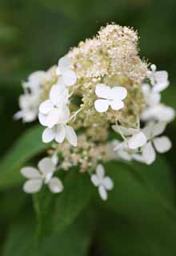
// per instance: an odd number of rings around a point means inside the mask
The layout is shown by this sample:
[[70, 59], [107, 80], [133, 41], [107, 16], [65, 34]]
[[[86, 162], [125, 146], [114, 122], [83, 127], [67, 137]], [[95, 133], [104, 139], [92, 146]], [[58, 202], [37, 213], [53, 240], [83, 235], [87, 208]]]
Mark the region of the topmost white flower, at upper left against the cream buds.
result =
[[68, 56], [62, 57], [58, 61], [58, 83], [66, 86], [73, 86], [76, 83], [77, 77], [73, 70], [71, 70], [71, 61]]

